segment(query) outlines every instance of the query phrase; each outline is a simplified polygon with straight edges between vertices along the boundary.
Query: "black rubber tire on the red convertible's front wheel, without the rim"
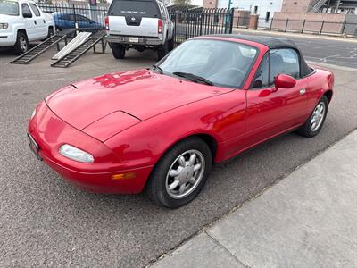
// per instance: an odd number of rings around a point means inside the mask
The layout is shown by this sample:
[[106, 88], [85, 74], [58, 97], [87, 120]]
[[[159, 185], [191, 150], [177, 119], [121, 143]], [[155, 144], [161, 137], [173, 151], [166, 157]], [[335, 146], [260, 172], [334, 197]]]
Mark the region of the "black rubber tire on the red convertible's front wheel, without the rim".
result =
[[[170, 194], [170, 190], [167, 189], [167, 181], [173, 180], [172, 177], [171, 179], [167, 179], [170, 178], [168, 174], [170, 172], [170, 168], [173, 167], [175, 163], [177, 163], [178, 157], [186, 153], [187, 151], [199, 152], [201, 156], [198, 156], [198, 153], [196, 153], [196, 159], [200, 159], [199, 157], [203, 157], [201, 158], [204, 159], [201, 164], [202, 170], [196, 171], [198, 173], [194, 173], [194, 176], [195, 174], [200, 174], [198, 175], [198, 177], [201, 179], [197, 179], [196, 184], [188, 184], [187, 196], [174, 198], [170, 196], [172, 194]], [[187, 160], [187, 163], [188, 162], [189, 161]], [[195, 164], [197, 163], [194, 163], [193, 165], [191, 165], [191, 167], [195, 166]], [[160, 205], [162, 207], [178, 208], [182, 205], [186, 205], [187, 203], [195, 199], [195, 197], [203, 188], [211, 171], [211, 168], [212, 153], [210, 147], [208, 147], [208, 145], [203, 141], [203, 139], [197, 137], [184, 139], [173, 147], [170, 147], [170, 149], [162, 156], [160, 161], [156, 163], [154, 171], [151, 173], [150, 178], [147, 181], [145, 191], [155, 204]], [[186, 176], [186, 179], [187, 178], [188, 177]], [[180, 185], [178, 185], [178, 188], [179, 186]]]

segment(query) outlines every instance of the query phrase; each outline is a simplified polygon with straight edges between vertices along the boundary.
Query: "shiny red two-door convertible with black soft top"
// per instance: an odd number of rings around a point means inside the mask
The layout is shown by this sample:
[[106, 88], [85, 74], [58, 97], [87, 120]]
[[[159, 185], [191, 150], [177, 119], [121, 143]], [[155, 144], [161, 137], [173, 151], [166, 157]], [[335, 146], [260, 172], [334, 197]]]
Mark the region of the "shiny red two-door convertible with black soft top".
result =
[[192, 38], [151, 69], [62, 88], [37, 105], [29, 145], [81, 188], [145, 189], [179, 207], [220, 163], [291, 130], [319, 133], [334, 76], [305, 63], [282, 38]]

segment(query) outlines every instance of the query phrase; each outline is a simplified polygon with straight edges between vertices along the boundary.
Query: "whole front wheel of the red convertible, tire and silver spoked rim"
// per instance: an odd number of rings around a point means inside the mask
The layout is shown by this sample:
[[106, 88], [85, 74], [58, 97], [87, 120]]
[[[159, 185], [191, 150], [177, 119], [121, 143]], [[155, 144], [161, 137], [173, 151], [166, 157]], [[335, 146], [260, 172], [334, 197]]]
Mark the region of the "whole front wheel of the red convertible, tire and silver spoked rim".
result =
[[164, 207], [186, 205], [203, 188], [211, 167], [212, 153], [203, 139], [182, 140], [154, 167], [146, 186], [149, 197]]

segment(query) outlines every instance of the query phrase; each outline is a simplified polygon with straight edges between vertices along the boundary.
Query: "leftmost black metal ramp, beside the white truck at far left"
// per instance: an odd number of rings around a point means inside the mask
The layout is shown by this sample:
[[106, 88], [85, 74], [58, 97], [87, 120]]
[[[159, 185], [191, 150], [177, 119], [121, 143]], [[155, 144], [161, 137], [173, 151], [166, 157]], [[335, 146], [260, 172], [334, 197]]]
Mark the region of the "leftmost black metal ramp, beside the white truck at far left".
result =
[[58, 46], [58, 43], [62, 40], [66, 40], [67, 34], [65, 35], [54, 35], [50, 38], [47, 38], [42, 43], [37, 46], [31, 48], [28, 52], [21, 54], [17, 58], [15, 58], [11, 63], [15, 64], [28, 64], [34, 59], [36, 59], [40, 54], [43, 54], [54, 45]]

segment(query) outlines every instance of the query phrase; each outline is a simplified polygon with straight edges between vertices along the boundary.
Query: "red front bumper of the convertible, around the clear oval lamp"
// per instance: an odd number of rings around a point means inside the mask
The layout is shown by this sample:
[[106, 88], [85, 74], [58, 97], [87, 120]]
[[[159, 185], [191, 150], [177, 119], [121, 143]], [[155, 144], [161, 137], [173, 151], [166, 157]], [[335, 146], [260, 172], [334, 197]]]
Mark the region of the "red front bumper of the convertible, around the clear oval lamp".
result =
[[[132, 168], [99, 140], [74, 129], [42, 102], [29, 121], [29, 134], [36, 141], [38, 155], [66, 180], [88, 191], [133, 194], [143, 190], [152, 166]], [[94, 155], [94, 163], [79, 163], [59, 154], [62, 144], [79, 147]], [[134, 172], [135, 178], [113, 180], [113, 175]]]

